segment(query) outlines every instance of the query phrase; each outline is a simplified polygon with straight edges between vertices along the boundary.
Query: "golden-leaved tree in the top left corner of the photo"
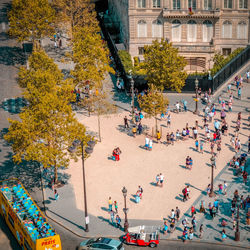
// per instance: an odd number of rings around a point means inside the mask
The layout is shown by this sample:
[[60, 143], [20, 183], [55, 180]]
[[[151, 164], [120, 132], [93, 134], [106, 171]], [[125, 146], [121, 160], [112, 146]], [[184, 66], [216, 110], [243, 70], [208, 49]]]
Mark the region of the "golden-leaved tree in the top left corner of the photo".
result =
[[9, 34], [20, 42], [34, 42], [54, 32], [55, 11], [48, 0], [13, 0], [8, 17]]

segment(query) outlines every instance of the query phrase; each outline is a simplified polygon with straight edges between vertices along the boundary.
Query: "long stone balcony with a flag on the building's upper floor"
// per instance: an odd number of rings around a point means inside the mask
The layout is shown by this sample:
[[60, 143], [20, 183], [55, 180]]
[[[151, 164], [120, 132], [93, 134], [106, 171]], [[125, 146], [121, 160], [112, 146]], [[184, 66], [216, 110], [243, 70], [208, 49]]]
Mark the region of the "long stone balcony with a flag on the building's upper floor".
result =
[[221, 11], [216, 10], [193, 10], [192, 13], [187, 9], [173, 10], [163, 9], [163, 17], [165, 18], [219, 18]]

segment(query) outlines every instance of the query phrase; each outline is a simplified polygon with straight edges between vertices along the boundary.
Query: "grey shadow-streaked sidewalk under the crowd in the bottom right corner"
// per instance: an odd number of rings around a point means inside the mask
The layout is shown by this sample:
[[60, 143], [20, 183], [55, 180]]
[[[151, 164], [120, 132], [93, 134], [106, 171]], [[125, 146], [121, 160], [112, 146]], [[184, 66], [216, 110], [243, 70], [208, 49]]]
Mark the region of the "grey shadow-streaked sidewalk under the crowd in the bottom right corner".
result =
[[[244, 148], [241, 153], [247, 153], [247, 143], [244, 144]], [[250, 174], [250, 158], [248, 158], [247, 163], [247, 172], [248, 175]], [[218, 193], [218, 185], [223, 184], [224, 181], [227, 182], [227, 194], [219, 194]], [[192, 204], [196, 209], [195, 218], [197, 221], [196, 233], [194, 233], [194, 241], [211, 241], [211, 242], [222, 242], [221, 240], [221, 221], [225, 219], [227, 221], [227, 226], [225, 227], [227, 239], [225, 241], [226, 244], [232, 245], [241, 245], [247, 246], [249, 245], [249, 231], [250, 226], [246, 225], [246, 211], [240, 209], [240, 241], [234, 241], [235, 232], [233, 231], [233, 219], [231, 217], [231, 201], [233, 199], [233, 193], [235, 190], [239, 191], [239, 195], [243, 195], [246, 198], [249, 195], [250, 191], [250, 182], [248, 180], [247, 185], [245, 185], [242, 181], [242, 176], [239, 177], [234, 175], [234, 169], [226, 165], [223, 170], [216, 176], [214, 179], [214, 191], [216, 193], [216, 197], [210, 198], [206, 191], [202, 191], [202, 194], [196, 199], [196, 201]], [[213, 204], [214, 200], [217, 199], [219, 201], [219, 211], [214, 219], [211, 218], [209, 211], [207, 209], [208, 204], [211, 202]], [[205, 202], [206, 214], [199, 212], [201, 202]], [[167, 236], [168, 239], [182, 239], [182, 231], [183, 225], [182, 220], [187, 218], [189, 221], [189, 226], [191, 225], [191, 209], [186, 211], [183, 216], [180, 218], [179, 222], [176, 225], [176, 230]], [[200, 239], [199, 235], [199, 228], [200, 225], [203, 224], [204, 234], [203, 238]]]

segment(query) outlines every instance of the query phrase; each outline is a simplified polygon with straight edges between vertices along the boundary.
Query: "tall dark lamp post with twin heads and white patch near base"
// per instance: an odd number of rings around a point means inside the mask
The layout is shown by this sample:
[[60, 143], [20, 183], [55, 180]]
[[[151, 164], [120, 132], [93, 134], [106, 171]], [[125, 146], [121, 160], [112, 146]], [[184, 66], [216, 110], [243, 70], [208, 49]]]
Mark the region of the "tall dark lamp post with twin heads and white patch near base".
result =
[[[87, 154], [93, 152], [95, 141], [88, 141], [88, 147], [85, 148]], [[69, 148], [71, 153], [76, 151], [77, 146], [81, 145], [82, 153], [82, 177], [83, 177], [83, 194], [84, 194], [84, 210], [85, 210], [85, 232], [89, 232], [89, 216], [88, 216], [88, 206], [87, 206], [87, 192], [86, 192], [86, 180], [85, 180], [85, 167], [84, 167], [84, 148], [83, 141], [75, 140], [72, 146]]]

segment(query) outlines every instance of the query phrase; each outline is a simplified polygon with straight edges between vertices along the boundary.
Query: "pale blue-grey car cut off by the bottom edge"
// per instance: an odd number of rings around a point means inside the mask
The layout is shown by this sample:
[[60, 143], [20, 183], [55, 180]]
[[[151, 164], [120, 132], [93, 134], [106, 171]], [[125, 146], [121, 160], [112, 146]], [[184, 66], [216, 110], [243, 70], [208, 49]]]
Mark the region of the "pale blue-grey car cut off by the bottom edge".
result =
[[118, 240], [100, 237], [82, 241], [78, 247], [78, 250], [84, 250], [84, 249], [124, 250], [124, 247], [122, 242]]

